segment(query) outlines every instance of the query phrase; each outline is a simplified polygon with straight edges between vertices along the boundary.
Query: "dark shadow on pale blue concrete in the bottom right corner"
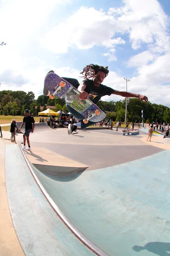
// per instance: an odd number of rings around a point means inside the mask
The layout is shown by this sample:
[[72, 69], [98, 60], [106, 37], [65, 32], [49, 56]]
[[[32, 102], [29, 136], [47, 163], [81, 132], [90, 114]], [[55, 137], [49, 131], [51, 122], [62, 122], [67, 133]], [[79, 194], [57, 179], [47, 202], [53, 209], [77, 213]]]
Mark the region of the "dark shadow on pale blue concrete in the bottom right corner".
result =
[[135, 252], [141, 250], [147, 250], [148, 252], [154, 253], [159, 256], [170, 256], [170, 242], [148, 242], [145, 246], [135, 245], [132, 247]]

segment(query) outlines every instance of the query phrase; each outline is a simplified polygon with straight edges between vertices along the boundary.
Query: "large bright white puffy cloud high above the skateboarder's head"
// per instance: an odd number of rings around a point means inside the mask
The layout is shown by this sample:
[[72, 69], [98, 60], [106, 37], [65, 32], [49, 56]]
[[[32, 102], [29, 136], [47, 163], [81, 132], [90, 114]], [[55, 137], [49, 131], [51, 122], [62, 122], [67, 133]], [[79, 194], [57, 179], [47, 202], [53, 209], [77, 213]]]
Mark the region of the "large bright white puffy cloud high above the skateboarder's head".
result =
[[115, 33], [114, 22], [114, 18], [102, 10], [81, 7], [67, 20], [53, 27], [41, 39], [41, 44], [55, 53], [66, 53], [69, 47], [89, 49], [102, 45], [112, 48], [116, 44], [125, 43], [120, 37], [112, 39]]

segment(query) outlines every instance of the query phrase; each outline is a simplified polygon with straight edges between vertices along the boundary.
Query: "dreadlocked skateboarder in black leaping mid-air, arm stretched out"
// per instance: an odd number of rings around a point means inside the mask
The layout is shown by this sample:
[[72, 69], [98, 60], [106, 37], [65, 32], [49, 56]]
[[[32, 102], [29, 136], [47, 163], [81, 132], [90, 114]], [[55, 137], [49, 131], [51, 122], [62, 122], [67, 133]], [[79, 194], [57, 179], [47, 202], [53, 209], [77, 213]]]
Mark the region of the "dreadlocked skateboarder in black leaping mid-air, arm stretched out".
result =
[[[51, 71], [53, 72], [53, 71]], [[103, 85], [102, 82], [104, 81], [105, 77], [108, 75], [108, 67], [98, 66], [94, 64], [90, 64], [86, 66], [83, 71], [80, 73], [84, 77], [84, 80], [78, 84], [77, 79], [73, 78], [65, 78], [63, 77], [67, 82], [69, 82], [71, 85], [75, 86], [79, 92], [81, 92], [79, 99], [80, 100], [87, 100], [90, 99], [94, 104], [96, 104], [101, 97], [111, 94], [116, 94], [122, 97], [127, 98], [138, 98], [139, 100], [143, 100], [147, 102], [147, 97], [140, 94], [134, 94], [130, 92], [124, 92], [124, 91], [117, 91], [112, 89], [111, 87], [108, 87], [106, 85]], [[44, 95], [48, 96], [50, 95], [50, 92], [47, 88], [45, 88], [44, 85]], [[68, 134], [72, 134], [73, 131], [76, 131], [77, 127], [81, 127], [81, 129], [85, 129], [86, 127], [95, 124], [95, 122], [89, 121], [87, 124], [83, 122], [84, 117], [79, 114], [76, 110], [74, 110], [71, 106], [66, 104], [66, 107], [68, 111], [73, 114], [79, 122], [77, 124], [69, 124], [68, 125]], [[102, 121], [102, 120], [101, 120]]]

